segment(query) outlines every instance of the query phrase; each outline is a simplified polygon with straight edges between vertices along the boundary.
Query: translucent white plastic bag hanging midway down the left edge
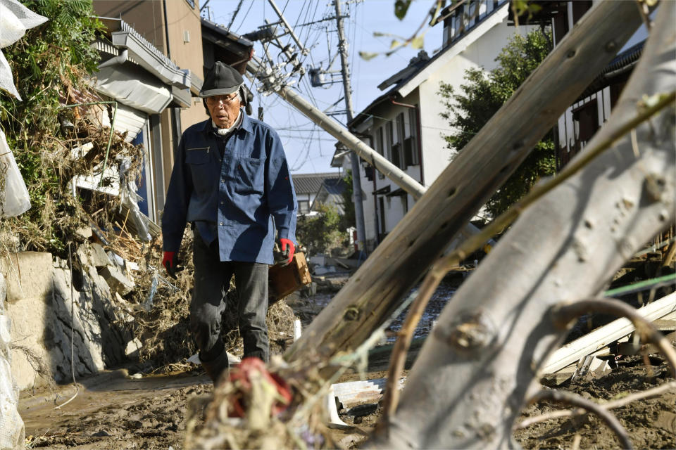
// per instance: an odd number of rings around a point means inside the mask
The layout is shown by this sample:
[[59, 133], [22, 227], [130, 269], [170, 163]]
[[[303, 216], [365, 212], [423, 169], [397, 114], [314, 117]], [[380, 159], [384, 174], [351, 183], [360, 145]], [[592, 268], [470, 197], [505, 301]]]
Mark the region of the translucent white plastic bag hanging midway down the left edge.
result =
[[0, 216], [18, 216], [30, 210], [30, 196], [14, 154], [0, 130]]

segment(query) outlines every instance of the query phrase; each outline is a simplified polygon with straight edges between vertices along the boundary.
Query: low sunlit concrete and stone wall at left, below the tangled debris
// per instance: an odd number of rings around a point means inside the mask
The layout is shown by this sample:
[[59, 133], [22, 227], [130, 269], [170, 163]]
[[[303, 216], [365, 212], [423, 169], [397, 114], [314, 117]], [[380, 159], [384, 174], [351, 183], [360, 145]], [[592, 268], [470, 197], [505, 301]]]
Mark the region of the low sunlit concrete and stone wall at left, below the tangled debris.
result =
[[[78, 249], [84, 269], [75, 276], [77, 286], [71, 285], [66, 262], [49, 253], [0, 259], [7, 284], [5, 311], [11, 319], [11, 373], [19, 389], [72, 379], [71, 335], [76, 378], [125, 360], [132, 334], [124, 323], [130, 316], [99, 275], [91, 249], [87, 244]], [[100, 261], [101, 269], [111, 264], [105, 253]]]

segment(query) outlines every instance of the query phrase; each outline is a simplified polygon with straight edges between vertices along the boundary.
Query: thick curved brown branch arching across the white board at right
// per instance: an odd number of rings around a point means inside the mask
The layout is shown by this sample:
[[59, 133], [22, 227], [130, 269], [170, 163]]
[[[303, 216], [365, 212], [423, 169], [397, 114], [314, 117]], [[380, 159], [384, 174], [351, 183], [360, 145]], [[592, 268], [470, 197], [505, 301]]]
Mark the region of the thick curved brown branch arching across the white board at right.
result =
[[665, 335], [660, 333], [650, 321], [646, 321], [636, 309], [625, 302], [613, 299], [593, 298], [568, 304], [560, 303], [552, 307], [551, 320], [556, 328], [565, 330], [568, 329], [571, 321], [574, 321], [583, 314], [592, 312], [613, 314], [615, 316], [626, 317], [632, 321], [641, 337], [641, 341], [651, 342], [656, 345], [667, 359], [672, 375], [676, 376], [676, 349], [672, 347], [669, 340], [665, 338]]

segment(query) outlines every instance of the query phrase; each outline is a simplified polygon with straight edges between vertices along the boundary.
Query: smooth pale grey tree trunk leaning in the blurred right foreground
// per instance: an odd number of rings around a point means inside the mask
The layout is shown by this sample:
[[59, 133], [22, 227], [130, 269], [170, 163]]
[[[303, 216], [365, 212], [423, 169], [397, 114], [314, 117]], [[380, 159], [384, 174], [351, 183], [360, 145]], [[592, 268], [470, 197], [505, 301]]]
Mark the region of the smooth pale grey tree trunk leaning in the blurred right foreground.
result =
[[[624, 130], [644, 96], [673, 92], [675, 13], [674, 1], [661, 2], [643, 56], [588, 148]], [[522, 213], [442, 311], [387, 433], [370, 448], [515, 447], [513, 421], [567, 334], [552, 307], [599, 295], [675, 219], [674, 120], [671, 103]]]

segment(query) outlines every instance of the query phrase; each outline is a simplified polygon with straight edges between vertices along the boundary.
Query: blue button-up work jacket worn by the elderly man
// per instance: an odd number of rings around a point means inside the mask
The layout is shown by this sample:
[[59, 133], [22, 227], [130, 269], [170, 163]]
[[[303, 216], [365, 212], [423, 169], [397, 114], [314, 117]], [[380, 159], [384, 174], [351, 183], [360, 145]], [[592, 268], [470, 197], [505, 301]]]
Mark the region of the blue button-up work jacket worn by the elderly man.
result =
[[227, 141], [211, 119], [184, 131], [162, 216], [165, 252], [179, 250], [187, 222], [218, 233], [221, 261], [273, 264], [275, 228], [296, 243], [296, 193], [280, 136], [240, 114], [242, 124]]

